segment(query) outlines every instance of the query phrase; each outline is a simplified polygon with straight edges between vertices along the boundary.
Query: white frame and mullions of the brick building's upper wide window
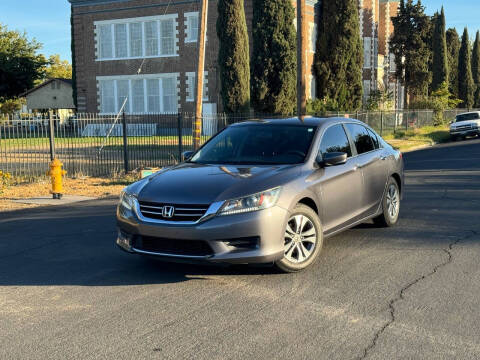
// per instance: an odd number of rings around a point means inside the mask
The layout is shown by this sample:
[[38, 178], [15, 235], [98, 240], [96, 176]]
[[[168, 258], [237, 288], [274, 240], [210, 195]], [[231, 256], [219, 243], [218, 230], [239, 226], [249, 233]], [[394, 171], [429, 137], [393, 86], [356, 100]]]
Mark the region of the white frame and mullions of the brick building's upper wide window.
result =
[[[161, 54], [161, 28], [160, 28], [160, 21], [162, 20], [169, 20], [173, 19], [173, 52], [171, 54]], [[157, 33], [158, 33], [158, 54], [157, 55], [149, 55], [145, 56], [146, 54], [146, 41], [145, 41], [145, 23], [147, 22], [156, 22], [157, 26]], [[141, 56], [131, 56], [130, 52], [130, 23], [141, 23], [142, 24], [142, 55]], [[127, 57], [116, 57], [116, 49], [115, 49], [115, 31], [114, 25], [115, 24], [126, 24], [127, 25]], [[162, 57], [177, 57], [178, 54], [178, 14], [166, 14], [166, 15], [158, 15], [158, 16], [145, 16], [145, 17], [137, 17], [137, 18], [128, 18], [128, 19], [115, 19], [115, 20], [102, 20], [102, 21], [95, 21], [95, 40], [97, 43], [97, 52], [95, 61], [112, 61], [112, 60], [129, 60], [129, 59], [150, 59], [150, 58], [162, 58]], [[102, 50], [101, 50], [101, 39], [100, 39], [100, 26], [110, 26], [110, 31], [112, 34], [112, 57], [111, 58], [103, 58], [102, 57]]]

